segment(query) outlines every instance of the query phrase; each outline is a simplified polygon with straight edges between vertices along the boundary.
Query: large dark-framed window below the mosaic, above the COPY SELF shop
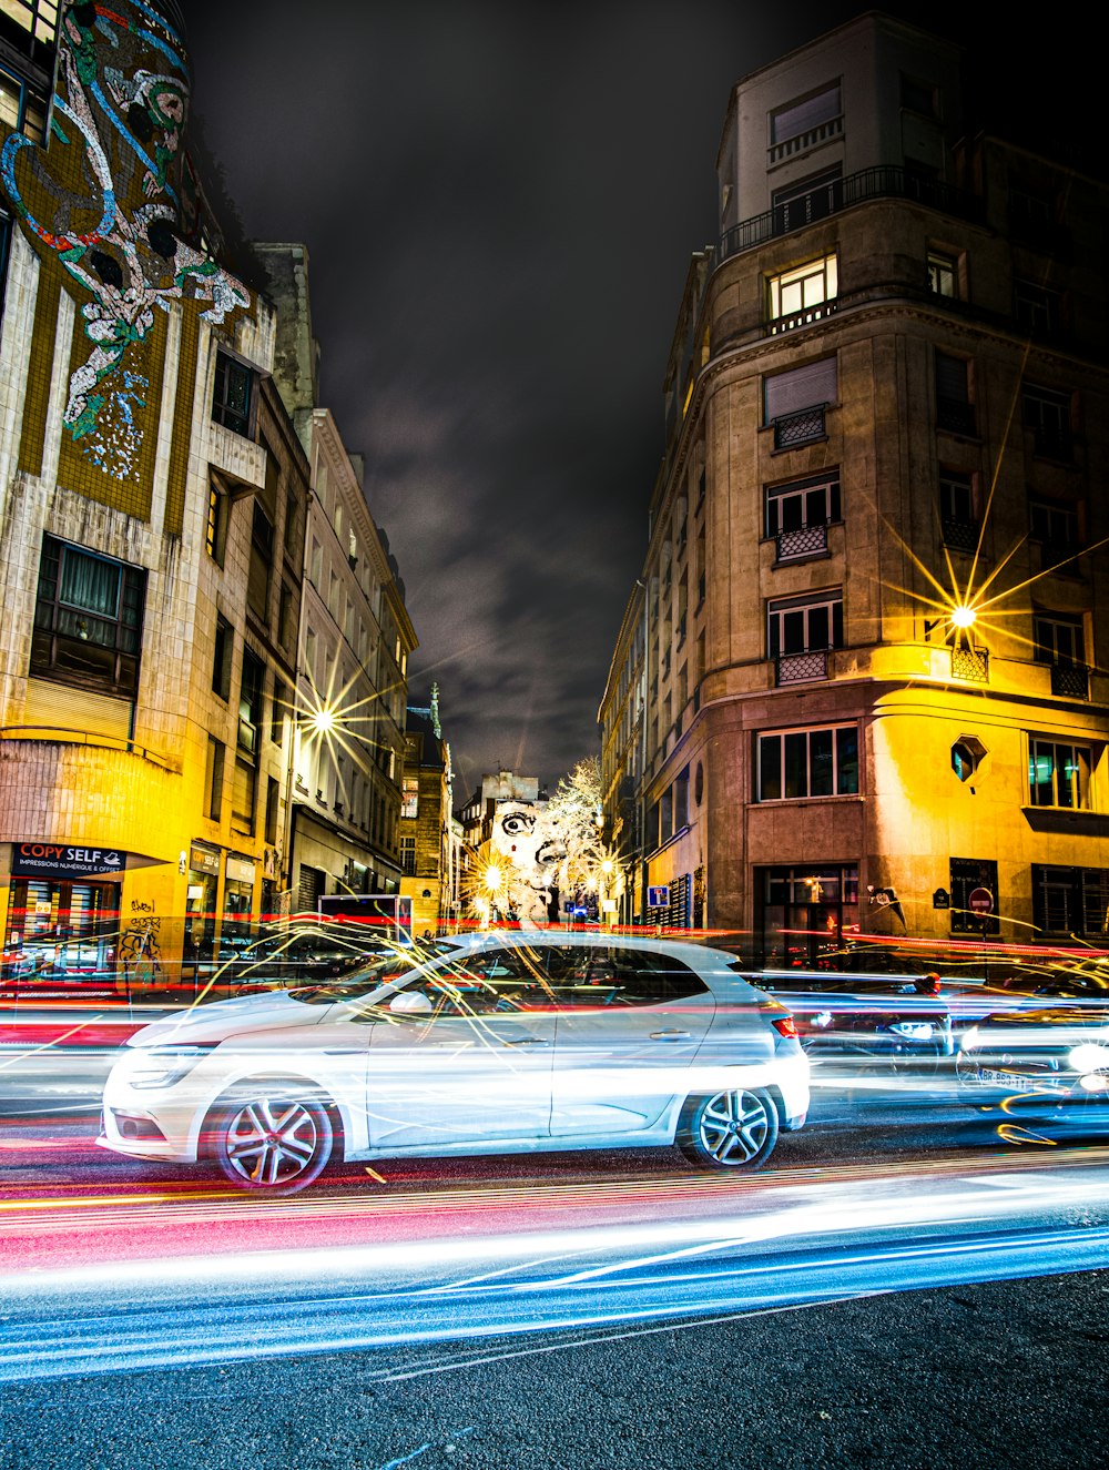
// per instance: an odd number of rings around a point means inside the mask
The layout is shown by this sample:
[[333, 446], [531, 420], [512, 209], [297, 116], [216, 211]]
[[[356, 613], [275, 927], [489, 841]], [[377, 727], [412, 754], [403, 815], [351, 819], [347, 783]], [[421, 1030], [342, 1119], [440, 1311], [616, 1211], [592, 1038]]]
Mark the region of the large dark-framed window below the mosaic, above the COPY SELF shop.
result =
[[134, 698], [147, 573], [43, 537], [32, 676]]

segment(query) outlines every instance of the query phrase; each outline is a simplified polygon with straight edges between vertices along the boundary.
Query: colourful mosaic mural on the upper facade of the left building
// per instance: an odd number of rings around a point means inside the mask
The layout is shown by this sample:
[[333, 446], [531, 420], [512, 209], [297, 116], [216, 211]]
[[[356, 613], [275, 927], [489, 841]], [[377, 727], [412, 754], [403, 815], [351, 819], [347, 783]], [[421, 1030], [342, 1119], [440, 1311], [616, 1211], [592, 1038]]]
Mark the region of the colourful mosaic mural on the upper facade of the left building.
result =
[[188, 97], [184, 41], [156, 10], [141, 0], [69, 4], [48, 148], [13, 132], [0, 153], [28, 240], [60, 263], [78, 303], [65, 426], [85, 462], [116, 481], [148, 463], [153, 338], [170, 301], [207, 303], [200, 315], [212, 323], [253, 309], [251, 293], [201, 248], [182, 147]]

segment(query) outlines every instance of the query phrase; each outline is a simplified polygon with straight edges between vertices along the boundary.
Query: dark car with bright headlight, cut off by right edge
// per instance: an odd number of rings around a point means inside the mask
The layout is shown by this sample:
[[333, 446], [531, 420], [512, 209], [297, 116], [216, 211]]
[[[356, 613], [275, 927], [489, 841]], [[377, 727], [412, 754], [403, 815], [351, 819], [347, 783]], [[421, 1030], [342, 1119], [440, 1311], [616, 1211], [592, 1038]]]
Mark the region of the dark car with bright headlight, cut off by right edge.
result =
[[1109, 988], [1056, 976], [1024, 1005], [984, 1016], [962, 1036], [959, 1097], [974, 1107], [1019, 1098], [1024, 1111], [1083, 1104], [1109, 1122]]

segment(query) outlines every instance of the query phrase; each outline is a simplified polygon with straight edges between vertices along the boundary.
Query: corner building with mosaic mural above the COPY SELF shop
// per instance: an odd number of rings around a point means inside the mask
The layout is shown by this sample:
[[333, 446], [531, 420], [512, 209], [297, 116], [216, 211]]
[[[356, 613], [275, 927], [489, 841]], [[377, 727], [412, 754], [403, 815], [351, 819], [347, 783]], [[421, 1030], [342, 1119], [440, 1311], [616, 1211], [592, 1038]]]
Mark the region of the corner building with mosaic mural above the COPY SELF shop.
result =
[[0, 22], [6, 978], [188, 983], [289, 882], [308, 466], [187, 146], [179, 7]]

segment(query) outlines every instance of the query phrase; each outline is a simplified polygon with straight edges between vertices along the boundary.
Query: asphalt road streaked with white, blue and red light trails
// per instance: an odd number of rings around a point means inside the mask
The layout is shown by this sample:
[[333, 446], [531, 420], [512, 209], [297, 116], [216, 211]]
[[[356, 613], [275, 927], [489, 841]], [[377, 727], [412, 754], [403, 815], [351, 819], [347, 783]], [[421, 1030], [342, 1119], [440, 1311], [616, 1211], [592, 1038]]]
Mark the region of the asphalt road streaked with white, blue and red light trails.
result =
[[423, 1160], [263, 1202], [95, 1150], [101, 1063], [56, 1066], [0, 1104], [0, 1467], [1105, 1463], [1109, 1151], [943, 1076], [817, 1069], [754, 1177]]

